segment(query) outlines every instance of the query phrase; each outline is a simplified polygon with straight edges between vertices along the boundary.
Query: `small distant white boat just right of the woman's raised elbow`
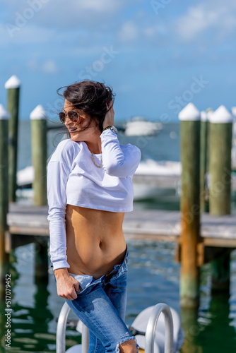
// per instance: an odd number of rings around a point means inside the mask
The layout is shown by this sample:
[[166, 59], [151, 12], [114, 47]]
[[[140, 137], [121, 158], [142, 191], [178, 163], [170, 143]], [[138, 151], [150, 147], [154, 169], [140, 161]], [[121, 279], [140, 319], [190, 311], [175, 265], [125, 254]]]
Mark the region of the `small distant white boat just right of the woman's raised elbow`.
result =
[[142, 116], [135, 116], [126, 122], [124, 133], [126, 136], [153, 136], [162, 128], [162, 123], [148, 121]]

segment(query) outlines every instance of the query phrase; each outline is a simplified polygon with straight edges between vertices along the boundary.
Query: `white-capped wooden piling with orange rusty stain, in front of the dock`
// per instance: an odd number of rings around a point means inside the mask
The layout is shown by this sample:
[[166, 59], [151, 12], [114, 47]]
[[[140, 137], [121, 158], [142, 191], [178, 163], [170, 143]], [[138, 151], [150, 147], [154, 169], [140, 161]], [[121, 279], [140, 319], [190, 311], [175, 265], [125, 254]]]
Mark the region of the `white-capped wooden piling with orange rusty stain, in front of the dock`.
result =
[[179, 113], [181, 176], [180, 305], [199, 306], [197, 244], [200, 230], [200, 112], [189, 103]]

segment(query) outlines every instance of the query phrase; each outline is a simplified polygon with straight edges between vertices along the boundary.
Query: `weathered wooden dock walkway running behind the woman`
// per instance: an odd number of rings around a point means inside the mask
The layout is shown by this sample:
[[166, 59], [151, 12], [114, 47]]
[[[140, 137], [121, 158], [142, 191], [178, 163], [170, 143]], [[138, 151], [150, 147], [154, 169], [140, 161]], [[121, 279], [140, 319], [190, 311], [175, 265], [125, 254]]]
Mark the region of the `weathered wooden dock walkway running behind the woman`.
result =
[[[7, 216], [9, 232], [6, 251], [17, 246], [49, 237], [47, 206], [34, 207], [10, 203]], [[126, 213], [123, 225], [126, 239], [148, 241], [179, 241], [180, 212], [165, 210], [134, 210]], [[21, 237], [19, 237], [21, 236]], [[201, 215], [201, 245], [236, 248], [236, 217]]]

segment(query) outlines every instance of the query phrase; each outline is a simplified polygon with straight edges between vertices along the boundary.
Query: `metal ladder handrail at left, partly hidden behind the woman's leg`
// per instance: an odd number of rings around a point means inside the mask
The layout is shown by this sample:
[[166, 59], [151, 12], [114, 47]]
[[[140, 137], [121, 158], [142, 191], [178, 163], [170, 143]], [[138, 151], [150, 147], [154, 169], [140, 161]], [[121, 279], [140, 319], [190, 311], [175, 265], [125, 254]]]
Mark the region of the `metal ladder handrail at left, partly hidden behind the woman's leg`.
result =
[[[71, 308], [65, 302], [61, 308], [57, 321], [57, 353], [66, 352], [66, 323]], [[89, 331], [82, 323], [82, 353], [88, 352]]]

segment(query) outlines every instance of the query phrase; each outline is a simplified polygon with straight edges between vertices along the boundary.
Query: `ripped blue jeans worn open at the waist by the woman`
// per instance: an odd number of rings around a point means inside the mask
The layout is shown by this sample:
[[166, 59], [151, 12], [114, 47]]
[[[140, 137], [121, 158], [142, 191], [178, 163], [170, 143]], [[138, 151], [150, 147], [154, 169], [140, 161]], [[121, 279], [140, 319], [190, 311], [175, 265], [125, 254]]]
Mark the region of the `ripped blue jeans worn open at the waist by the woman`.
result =
[[[98, 280], [88, 275], [73, 275], [82, 290], [76, 292], [76, 299], [65, 300], [89, 329], [88, 353], [118, 353], [120, 344], [131, 339], [136, 341], [124, 323], [128, 256], [126, 249], [122, 264], [114, 265], [109, 275]], [[138, 350], [137, 344], [136, 347]]]

